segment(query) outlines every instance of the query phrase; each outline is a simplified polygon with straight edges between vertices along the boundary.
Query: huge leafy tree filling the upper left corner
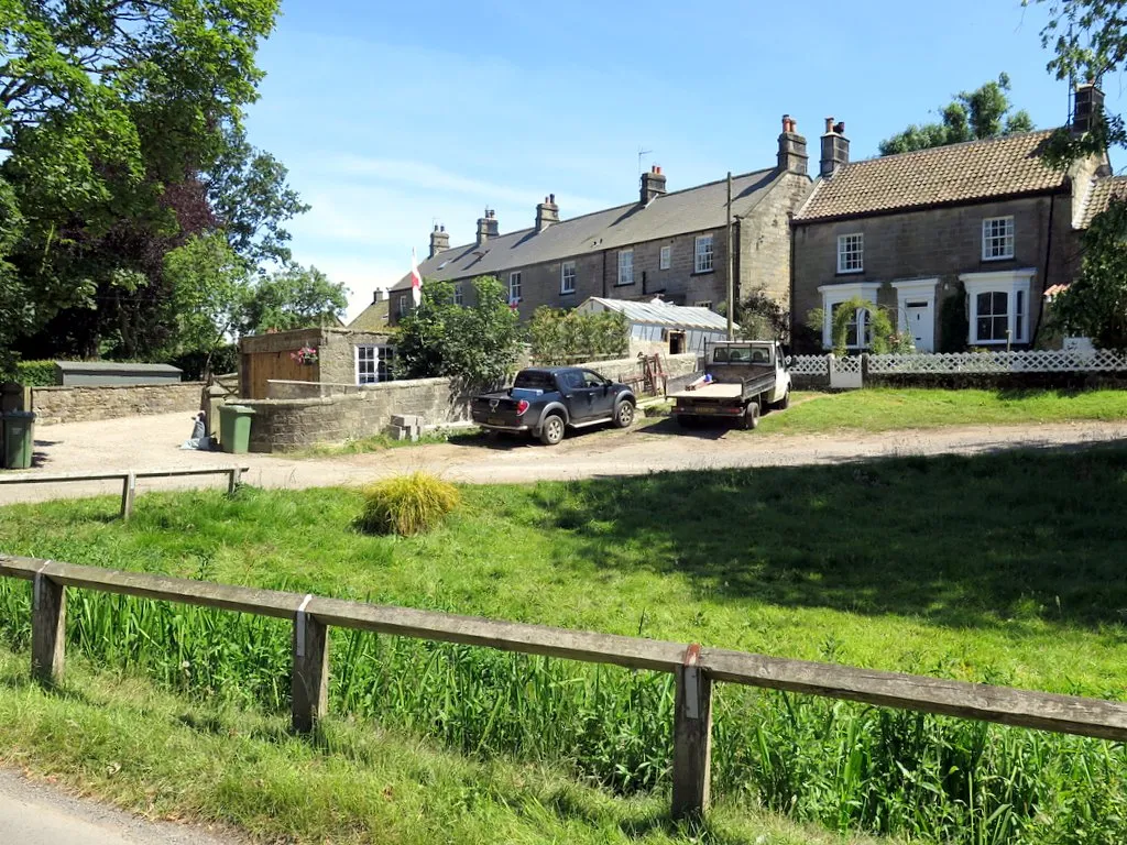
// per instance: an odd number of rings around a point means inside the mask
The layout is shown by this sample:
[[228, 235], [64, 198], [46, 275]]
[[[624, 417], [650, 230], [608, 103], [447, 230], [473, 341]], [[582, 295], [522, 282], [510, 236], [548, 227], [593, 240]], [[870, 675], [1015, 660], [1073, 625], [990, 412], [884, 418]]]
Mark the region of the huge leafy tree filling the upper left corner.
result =
[[59, 314], [47, 343], [144, 356], [175, 340], [169, 251], [222, 230], [248, 263], [289, 257], [279, 223], [304, 206], [242, 132], [277, 11], [278, 0], [0, 0], [0, 193], [20, 221], [0, 239], [0, 297], [26, 303], [0, 335]]

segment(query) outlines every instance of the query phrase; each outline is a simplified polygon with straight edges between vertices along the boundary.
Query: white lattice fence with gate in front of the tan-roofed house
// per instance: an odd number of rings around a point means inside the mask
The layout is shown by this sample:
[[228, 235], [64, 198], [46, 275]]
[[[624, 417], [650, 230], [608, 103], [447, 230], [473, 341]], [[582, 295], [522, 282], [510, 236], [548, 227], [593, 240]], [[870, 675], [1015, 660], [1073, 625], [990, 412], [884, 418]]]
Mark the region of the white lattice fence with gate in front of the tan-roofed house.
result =
[[[862, 357], [866, 358], [862, 365]], [[793, 375], [826, 377], [835, 389], [860, 388], [868, 375], [924, 375], [952, 373], [1122, 373], [1127, 355], [1109, 349], [1032, 349], [913, 355], [796, 355]]]

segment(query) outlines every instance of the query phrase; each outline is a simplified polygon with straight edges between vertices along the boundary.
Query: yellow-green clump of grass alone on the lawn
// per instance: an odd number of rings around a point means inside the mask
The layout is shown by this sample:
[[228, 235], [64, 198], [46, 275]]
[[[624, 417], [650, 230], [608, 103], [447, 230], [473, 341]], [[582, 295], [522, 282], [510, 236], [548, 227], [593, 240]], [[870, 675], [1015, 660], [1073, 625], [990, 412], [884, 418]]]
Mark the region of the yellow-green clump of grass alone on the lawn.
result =
[[397, 475], [365, 491], [360, 527], [366, 534], [421, 534], [441, 523], [458, 502], [458, 488], [449, 481], [428, 472]]

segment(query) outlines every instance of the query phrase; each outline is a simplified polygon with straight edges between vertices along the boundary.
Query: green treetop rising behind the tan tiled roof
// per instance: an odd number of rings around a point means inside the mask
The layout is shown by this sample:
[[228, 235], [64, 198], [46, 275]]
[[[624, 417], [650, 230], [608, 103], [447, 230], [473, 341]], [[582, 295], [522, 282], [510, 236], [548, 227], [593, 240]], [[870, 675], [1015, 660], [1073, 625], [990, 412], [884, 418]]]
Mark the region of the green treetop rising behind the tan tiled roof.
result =
[[1029, 132], [1033, 122], [1024, 109], [1013, 110], [1010, 78], [1002, 73], [974, 91], [961, 91], [940, 109], [939, 123], [912, 124], [880, 142], [880, 154], [928, 150], [1014, 132]]

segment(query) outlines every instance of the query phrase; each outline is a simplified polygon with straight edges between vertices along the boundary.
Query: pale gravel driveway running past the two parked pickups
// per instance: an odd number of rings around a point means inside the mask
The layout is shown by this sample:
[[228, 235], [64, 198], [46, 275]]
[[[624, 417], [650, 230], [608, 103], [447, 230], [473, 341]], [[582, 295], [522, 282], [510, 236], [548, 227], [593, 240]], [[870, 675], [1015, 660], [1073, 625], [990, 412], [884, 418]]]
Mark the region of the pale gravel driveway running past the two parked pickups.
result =
[[[36, 460], [52, 472], [198, 468], [233, 462], [236, 456], [223, 453], [180, 451], [178, 446], [190, 429], [187, 413], [42, 426], [36, 429]], [[824, 435], [764, 435], [726, 428], [682, 432], [672, 420], [663, 420], [628, 430], [569, 433], [556, 447], [516, 438], [496, 442], [473, 438], [458, 444], [322, 459], [251, 454], [239, 456], [239, 463], [250, 466], [246, 480], [260, 487], [356, 484], [414, 470], [436, 472], [452, 481], [490, 483], [630, 475], [658, 470], [835, 463], [889, 455], [975, 454], [1125, 438], [1127, 420]], [[141, 492], [224, 483], [222, 477], [139, 482]], [[7, 484], [0, 486], [0, 504], [119, 490], [119, 482]]]

